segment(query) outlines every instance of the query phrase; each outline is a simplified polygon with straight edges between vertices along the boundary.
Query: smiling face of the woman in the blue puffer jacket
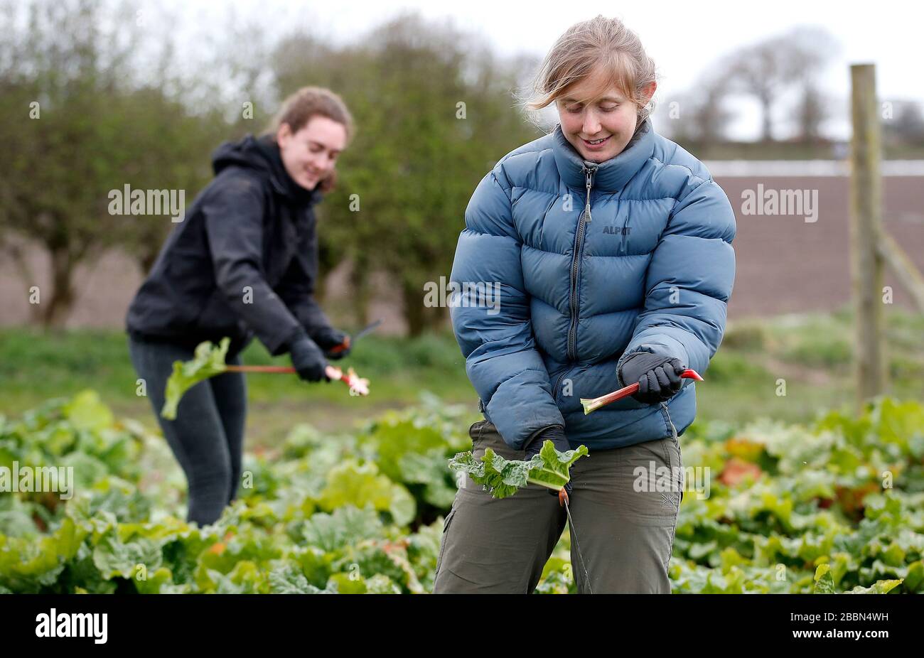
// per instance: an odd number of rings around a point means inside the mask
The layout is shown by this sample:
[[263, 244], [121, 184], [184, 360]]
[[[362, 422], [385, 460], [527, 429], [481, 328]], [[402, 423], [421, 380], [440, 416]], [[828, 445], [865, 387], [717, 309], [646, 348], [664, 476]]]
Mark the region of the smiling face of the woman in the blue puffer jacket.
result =
[[[656, 82], [646, 88], [645, 104], [656, 88]], [[614, 84], [608, 86], [602, 67], [566, 87], [555, 104], [565, 139], [590, 162], [602, 163], [614, 158], [623, 152], [635, 133], [638, 106]]]

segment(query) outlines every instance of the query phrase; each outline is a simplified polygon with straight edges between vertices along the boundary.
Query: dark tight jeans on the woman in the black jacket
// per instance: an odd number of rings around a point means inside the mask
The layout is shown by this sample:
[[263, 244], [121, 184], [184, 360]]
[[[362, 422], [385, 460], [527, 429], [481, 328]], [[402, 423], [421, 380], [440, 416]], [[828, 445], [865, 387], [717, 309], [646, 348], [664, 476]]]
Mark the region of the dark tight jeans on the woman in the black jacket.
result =
[[[145, 381], [154, 415], [188, 482], [187, 521], [213, 523], [237, 495], [247, 415], [243, 372], [225, 372], [190, 388], [176, 409], [176, 420], [161, 417], [164, 386], [173, 362], [193, 357], [193, 350], [172, 343], [128, 339], [135, 372]], [[227, 359], [240, 364], [239, 356]]]

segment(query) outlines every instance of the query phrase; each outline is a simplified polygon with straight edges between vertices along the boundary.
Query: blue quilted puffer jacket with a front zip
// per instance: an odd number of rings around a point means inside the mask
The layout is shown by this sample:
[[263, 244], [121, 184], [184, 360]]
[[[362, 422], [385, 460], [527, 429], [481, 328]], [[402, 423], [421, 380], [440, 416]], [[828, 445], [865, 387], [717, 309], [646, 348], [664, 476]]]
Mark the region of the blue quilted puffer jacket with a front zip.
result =
[[687, 430], [692, 380], [656, 405], [629, 396], [585, 416], [579, 398], [625, 385], [618, 368], [637, 351], [705, 376], [735, 281], [736, 224], [699, 160], [650, 119], [600, 164], [558, 127], [494, 166], [465, 223], [450, 315], [480, 409], [508, 445], [549, 425], [591, 451]]

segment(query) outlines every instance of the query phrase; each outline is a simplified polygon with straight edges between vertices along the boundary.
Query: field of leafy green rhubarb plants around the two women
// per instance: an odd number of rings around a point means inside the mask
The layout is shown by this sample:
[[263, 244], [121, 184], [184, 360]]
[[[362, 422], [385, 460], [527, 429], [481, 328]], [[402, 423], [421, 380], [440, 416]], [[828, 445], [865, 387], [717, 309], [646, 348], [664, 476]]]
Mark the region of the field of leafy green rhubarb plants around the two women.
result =
[[[73, 497], [0, 494], [0, 591], [431, 591], [455, 494], [446, 462], [474, 420], [424, 396], [349, 433], [295, 426], [247, 455], [240, 497], [199, 528], [181, 520], [162, 438], [95, 392], [49, 400], [0, 418], [0, 467], [72, 466]], [[807, 426], [698, 422], [681, 445], [687, 469], [709, 470], [687, 470], [675, 592], [924, 591], [921, 404], [882, 398]], [[567, 538], [538, 591], [574, 591]]]

